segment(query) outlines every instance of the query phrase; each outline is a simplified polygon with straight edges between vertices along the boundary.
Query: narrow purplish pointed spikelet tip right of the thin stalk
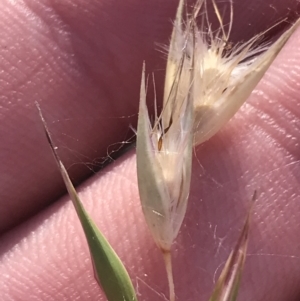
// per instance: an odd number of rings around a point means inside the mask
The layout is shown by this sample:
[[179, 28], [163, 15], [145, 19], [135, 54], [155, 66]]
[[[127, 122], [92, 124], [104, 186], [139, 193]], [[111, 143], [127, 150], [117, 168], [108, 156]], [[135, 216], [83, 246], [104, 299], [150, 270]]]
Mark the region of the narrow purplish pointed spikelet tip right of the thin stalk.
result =
[[246, 259], [250, 219], [255, 201], [256, 192], [254, 192], [252, 197], [252, 202], [237, 244], [226, 261], [209, 301], [235, 301], [237, 298]]

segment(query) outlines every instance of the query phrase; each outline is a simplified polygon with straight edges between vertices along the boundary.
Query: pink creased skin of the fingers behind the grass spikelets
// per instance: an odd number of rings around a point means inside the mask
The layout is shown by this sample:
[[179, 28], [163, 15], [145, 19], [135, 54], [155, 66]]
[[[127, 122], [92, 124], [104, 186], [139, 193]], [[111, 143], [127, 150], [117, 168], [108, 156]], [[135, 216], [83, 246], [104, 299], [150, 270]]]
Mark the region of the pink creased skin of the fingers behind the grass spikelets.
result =
[[[236, 2], [233, 40], [297, 10], [292, 0], [248, 1], [247, 10]], [[60, 198], [65, 190], [34, 101], [81, 183], [91, 174], [87, 163], [101, 161], [136, 124], [143, 60], [161, 95], [165, 58], [154, 43], [168, 43], [176, 4], [1, 1], [2, 300], [105, 300], [72, 204]], [[254, 190], [240, 300], [299, 300], [299, 48], [298, 30], [233, 120], [195, 150], [189, 208], [174, 245], [178, 300], [208, 300]], [[134, 150], [78, 191], [140, 300], [166, 300], [163, 261], [139, 205]]]

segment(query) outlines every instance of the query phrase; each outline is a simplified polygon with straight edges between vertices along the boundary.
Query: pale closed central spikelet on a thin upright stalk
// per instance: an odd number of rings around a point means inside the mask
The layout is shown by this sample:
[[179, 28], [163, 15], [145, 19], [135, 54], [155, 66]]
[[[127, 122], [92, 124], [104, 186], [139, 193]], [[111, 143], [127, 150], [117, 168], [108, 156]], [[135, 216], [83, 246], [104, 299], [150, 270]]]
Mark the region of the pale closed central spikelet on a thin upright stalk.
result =
[[[174, 98], [176, 100], [176, 98]], [[164, 254], [170, 300], [175, 300], [171, 246], [185, 216], [192, 163], [193, 105], [189, 94], [170, 101], [151, 125], [143, 68], [137, 128], [137, 176], [148, 227]], [[176, 112], [176, 114], [172, 114]]]

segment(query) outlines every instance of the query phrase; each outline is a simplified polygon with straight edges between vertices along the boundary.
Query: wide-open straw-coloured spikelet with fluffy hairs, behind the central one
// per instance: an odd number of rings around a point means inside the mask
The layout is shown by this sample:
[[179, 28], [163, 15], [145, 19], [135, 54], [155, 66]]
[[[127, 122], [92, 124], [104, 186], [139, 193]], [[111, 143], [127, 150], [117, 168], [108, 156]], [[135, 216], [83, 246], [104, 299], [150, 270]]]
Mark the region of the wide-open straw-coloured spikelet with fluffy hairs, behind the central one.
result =
[[[165, 80], [165, 105], [168, 106], [170, 98], [174, 97], [174, 91], [178, 102], [182, 102], [181, 98], [188, 93], [191, 94], [195, 110], [196, 145], [211, 138], [233, 117], [300, 24], [298, 20], [272, 45], [259, 44], [267, 31], [247, 42], [232, 45], [232, 3], [228, 26], [224, 25], [214, 0], [212, 3], [219, 20], [219, 29], [216, 31], [212, 30], [209, 22], [206, 0], [198, 0], [191, 16], [185, 21], [182, 20], [184, 1], [179, 2]], [[199, 14], [202, 18], [199, 23], [202, 25], [197, 27], [196, 18]]]

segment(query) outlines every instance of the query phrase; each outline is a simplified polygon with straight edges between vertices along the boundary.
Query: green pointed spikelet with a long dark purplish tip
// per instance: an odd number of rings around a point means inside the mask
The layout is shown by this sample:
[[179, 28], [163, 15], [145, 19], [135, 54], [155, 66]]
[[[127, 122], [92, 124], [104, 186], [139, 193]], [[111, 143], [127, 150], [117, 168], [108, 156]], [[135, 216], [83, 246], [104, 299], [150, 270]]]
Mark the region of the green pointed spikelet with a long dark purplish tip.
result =
[[102, 287], [108, 301], [137, 301], [133, 285], [124, 265], [84, 209], [68, 172], [58, 157], [56, 147], [52, 142], [50, 132], [38, 103], [36, 103], [36, 106], [43, 122], [52, 153], [84, 230], [93, 261], [95, 278]]

